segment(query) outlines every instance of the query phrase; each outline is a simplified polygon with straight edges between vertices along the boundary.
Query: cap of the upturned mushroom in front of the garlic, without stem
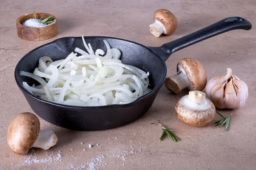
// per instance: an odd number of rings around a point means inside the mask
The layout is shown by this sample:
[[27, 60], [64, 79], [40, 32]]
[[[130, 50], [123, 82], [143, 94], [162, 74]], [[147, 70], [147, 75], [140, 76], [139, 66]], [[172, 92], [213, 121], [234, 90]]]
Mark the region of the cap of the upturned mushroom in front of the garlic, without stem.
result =
[[[205, 98], [204, 106], [193, 106], [186, 100], [189, 95], [181, 97], [175, 104], [175, 114], [184, 124], [200, 127], [209, 124], [216, 115], [216, 108], [214, 104], [207, 98]], [[190, 105], [189, 107], [184, 106]]]

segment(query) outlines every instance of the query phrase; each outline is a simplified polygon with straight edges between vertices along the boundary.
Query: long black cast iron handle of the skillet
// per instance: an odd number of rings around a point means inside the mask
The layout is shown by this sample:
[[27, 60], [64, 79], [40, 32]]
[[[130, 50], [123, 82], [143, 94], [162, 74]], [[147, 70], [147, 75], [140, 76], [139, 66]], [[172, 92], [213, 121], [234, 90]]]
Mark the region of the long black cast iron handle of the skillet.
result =
[[175, 51], [179, 51], [187, 46], [211, 38], [215, 35], [225, 33], [234, 29], [249, 30], [252, 28], [251, 22], [240, 17], [230, 17], [220, 20], [210, 26], [195, 31], [172, 42], [168, 42], [159, 47], [148, 47], [153, 50], [162, 60], [166, 61]]

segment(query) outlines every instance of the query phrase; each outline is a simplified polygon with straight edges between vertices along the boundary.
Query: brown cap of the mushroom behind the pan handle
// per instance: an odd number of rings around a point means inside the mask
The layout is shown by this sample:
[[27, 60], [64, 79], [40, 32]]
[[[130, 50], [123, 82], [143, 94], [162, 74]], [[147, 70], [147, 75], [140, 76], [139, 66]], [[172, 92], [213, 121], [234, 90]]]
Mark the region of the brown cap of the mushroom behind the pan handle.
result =
[[176, 31], [178, 22], [177, 18], [175, 17], [175, 15], [173, 15], [173, 13], [171, 13], [171, 11], [168, 11], [167, 9], [158, 9], [157, 11], [155, 11], [153, 18], [154, 22], [155, 20], [158, 20], [159, 22], [164, 24], [164, 34], [171, 35]]

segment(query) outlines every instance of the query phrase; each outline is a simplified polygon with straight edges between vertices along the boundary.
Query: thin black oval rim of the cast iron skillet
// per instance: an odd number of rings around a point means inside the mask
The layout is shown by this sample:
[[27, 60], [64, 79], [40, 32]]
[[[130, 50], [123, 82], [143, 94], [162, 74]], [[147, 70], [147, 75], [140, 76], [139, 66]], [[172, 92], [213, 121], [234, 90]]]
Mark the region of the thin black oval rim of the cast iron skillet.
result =
[[18, 79], [18, 68], [20, 66], [20, 64], [22, 63], [23, 60], [25, 60], [25, 58], [27, 57], [27, 55], [29, 55], [30, 53], [32, 53], [33, 51], [36, 51], [37, 49], [40, 49], [43, 46], [46, 46], [48, 44], [52, 44], [54, 42], [56, 42], [57, 40], [60, 39], [65, 39], [65, 38], [81, 38], [81, 37], [62, 37], [62, 38], [58, 38], [56, 40], [53, 40], [52, 42], [48, 42], [46, 44], [43, 44], [41, 46], [36, 47], [35, 49], [29, 51], [28, 53], [26, 53], [17, 63], [16, 67], [15, 67], [15, 71], [14, 71], [14, 77], [15, 77], [15, 81], [16, 84], [18, 85], [18, 87], [20, 88], [20, 90], [24, 93], [26, 93], [27, 95], [29, 95], [30, 97], [39, 100], [45, 104], [49, 104], [49, 105], [54, 105], [54, 106], [58, 106], [58, 107], [62, 107], [62, 108], [69, 108], [69, 109], [97, 109], [97, 108], [112, 108], [112, 107], [128, 107], [131, 105], [136, 104], [139, 100], [143, 99], [144, 97], [154, 93], [155, 91], [157, 91], [157, 89], [161, 88], [161, 86], [164, 84], [164, 79], [166, 78], [167, 75], [167, 68], [166, 68], [166, 64], [164, 62], [164, 60], [161, 59], [161, 57], [159, 57], [157, 54], [155, 54], [151, 49], [149, 49], [147, 46], [144, 46], [142, 44], [139, 44], [137, 42], [133, 42], [130, 40], [125, 40], [125, 39], [121, 39], [121, 38], [113, 38], [113, 37], [107, 37], [107, 36], [83, 36], [83, 37], [87, 37], [87, 38], [109, 38], [109, 39], [115, 39], [115, 40], [122, 40], [122, 41], [126, 41], [126, 42], [130, 42], [133, 44], [137, 44], [139, 46], [142, 46], [144, 49], [147, 49], [148, 51], [150, 51], [150, 53], [153, 53], [156, 57], [159, 58], [159, 60], [162, 62], [162, 65], [164, 66], [164, 73], [162, 75], [161, 80], [159, 81], [160, 83], [157, 84], [157, 86], [155, 86], [150, 92], [146, 93], [145, 95], [142, 95], [140, 97], [138, 97], [137, 99], [135, 99], [133, 102], [127, 103], [127, 104], [111, 104], [111, 105], [105, 105], [105, 106], [72, 106], [72, 105], [65, 105], [65, 104], [58, 104], [55, 102], [50, 102], [48, 100], [42, 99], [36, 95], [33, 95], [31, 93], [29, 93], [29, 91], [27, 91], [27, 89], [25, 89], [22, 84], [20, 83], [19, 79]]

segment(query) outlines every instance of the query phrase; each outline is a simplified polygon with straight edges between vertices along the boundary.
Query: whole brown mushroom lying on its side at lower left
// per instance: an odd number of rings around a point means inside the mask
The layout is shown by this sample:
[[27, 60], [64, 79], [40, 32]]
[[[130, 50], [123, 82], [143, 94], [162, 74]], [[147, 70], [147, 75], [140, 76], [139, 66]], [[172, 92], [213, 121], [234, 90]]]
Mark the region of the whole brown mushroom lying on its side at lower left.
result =
[[40, 122], [32, 113], [20, 113], [14, 117], [7, 130], [7, 144], [13, 153], [25, 155], [30, 148], [47, 150], [56, 145], [53, 130], [40, 130]]

